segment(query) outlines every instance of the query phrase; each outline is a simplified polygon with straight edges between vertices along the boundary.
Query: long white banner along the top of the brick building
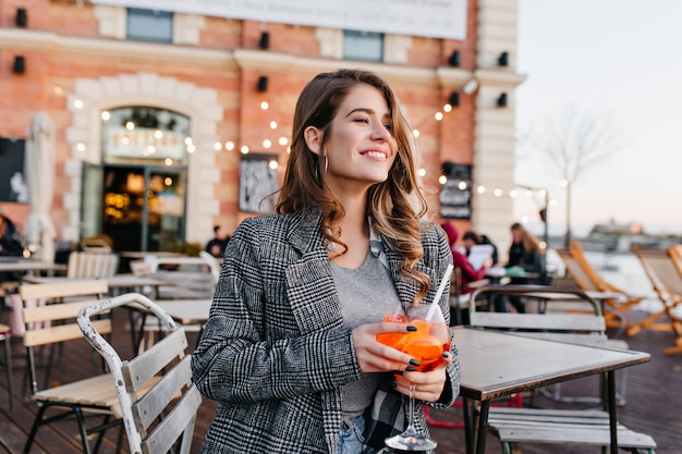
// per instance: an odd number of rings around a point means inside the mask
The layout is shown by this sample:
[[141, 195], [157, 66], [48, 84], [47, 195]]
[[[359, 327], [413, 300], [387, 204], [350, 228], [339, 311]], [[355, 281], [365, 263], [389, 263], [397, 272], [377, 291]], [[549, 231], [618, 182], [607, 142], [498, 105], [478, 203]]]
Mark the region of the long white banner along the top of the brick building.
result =
[[466, 0], [90, 0], [90, 2], [430, 38], [466, 37]]

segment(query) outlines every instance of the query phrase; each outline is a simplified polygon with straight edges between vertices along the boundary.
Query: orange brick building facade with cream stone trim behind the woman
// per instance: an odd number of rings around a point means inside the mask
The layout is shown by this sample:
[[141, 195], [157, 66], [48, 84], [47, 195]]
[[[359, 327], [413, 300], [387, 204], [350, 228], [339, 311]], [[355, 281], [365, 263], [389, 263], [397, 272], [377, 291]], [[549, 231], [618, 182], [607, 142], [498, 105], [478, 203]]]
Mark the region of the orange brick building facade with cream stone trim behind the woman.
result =
[[[240, 204], [240, 163], [246, 156], [267, 155], [282, 174], [284, 139], [291, 135], [294, 103], [305, 83], [321, 71], [366, 68], [392, 83], [419, 132], [418, 165], [431, 214], [437, 217], [440, 210], [443, 163], [471, 165], [471, 218], [454, 222], [462, 231], [473, 226], [506, 244], [512, 200], [495, 189], [513, 188], [514, 88], [524, 78], [514, 71], [516, 2], [465, 4], [464, 39], [386, 34], [382, 61], [368, 63], [343, 60], [343, 29], [338, 28], [176, 12], [172, 44], [153, 44], [126, 38], [124, 7], [4, 0], [0, 137], [25, 138], [38, 111], [52, 119], [51, 217], [58, 240], [77, 242], [101, 233], [99, 217], [107, 204], [114, 204], [106, 200], [102, 188], [107, 172], [120, 174], [124, 168], [142, 172], [146, 188], [153, 177], [182, 180], [174, 194], [180, 197], [175, 204], [180, 236], [174, 241], [204, 243], [214, 224], [233, 230], [254, 214], [241, 210]], [[17, 20], [20, 10], [25, 21]], [[455, 51], [459, 62], [452, 59]], [[16, 68], [17, 58], [22, 68]], [[444, 112], [453, 93], [459, 106]], [[188, 119], [192, 150], [187, 148], [184, 161], [106, 162], [102, 149], [109, 137], [102, 112], [124, 107], [151, 107]], [[436, 120], [437, 112], [442, 120]], [[244, 147], [247, 155], [241, 152]], [[132, 181], [129, 175], [127, 183]], [[156, 192], [154, 197], [160, 200], [161, 195]], [[25, 220], [25, 206], [2, 204], [2, 208], [20, 225]], [[151, 242], [145, 247], [163, 245]]]

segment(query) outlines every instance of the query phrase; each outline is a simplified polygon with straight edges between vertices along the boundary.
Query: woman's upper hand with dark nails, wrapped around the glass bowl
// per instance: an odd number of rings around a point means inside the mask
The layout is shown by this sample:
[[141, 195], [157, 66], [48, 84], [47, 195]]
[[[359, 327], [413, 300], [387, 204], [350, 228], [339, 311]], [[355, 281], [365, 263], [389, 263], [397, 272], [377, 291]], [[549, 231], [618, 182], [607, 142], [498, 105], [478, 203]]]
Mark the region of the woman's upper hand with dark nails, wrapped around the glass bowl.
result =
[[405, 370], [412, 361], [412, 366], [418, 364], [407, 355], [393, 347], [383, 345], [377, 341], [377, 334], [406, 333], [415, 327], [405, 323], [369, 323], [361, 324], [351, 332], [351, 339], [355, 346], [355, 357], [363, 373], [388, 372]]

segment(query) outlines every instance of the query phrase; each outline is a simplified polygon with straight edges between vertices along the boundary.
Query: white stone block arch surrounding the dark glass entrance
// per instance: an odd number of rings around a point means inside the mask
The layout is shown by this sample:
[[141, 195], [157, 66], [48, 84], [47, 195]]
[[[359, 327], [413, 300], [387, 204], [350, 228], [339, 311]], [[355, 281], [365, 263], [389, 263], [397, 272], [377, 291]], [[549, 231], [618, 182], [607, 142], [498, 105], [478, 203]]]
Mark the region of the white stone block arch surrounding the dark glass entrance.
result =
[[218, 94], [174, 77], [137, 73], [75, 81], [74, 93], [69, 98], [73, 124], [66, 131], [71, 158], [64, 163], [64, 172], [71, 180], [70, 191], [63, 195], [69, 222], [61, 232], [62, 238], [80, 240], [82, 163], [101, 163], [100, 112], [123, 106], [150, 106], [190, 116], [196, 151], [188, 155], [187, 161], [185, 241], [200, 243], [210, 237], [214, 217], [219, 213], [215, 187], [220, 182], [220, 170], [214, 148], [219, 140], [218, 123], [222, 120]]

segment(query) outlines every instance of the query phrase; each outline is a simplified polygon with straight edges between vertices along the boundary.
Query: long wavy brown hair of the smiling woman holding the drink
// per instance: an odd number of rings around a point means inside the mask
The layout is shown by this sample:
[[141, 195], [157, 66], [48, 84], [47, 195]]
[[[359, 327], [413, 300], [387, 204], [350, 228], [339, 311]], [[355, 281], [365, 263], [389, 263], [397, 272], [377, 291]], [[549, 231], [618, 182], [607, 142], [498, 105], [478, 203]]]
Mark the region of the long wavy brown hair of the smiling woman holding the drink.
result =
[[[393, 89], [377, 74], [363, 70], [339, 70], [318, 74], [305, 86], [296, 102], [291, 154], [277, 212], [320, 209], [321, 234], [329, 242], [340, 243], [338, 232], [333, 232], [331, 225], [345, 212], [325, 184], [324, 160], [307, 147], [304, 133], [308, 126], [322, 131], [320, 149], [324, 149], [339, 106], [361, 84], [375, 87], [386, 99], [391, 116], [391, 134], [398, 144], [398, 154], [388, 179], [369, 188], [367, 213], [373, 228], [403, 258], [401, 272], [422, 285], [416, 297], [418, 302], [426, 296], [430, 286], [429, 277], [414, 268], [424, 255], [419, 219], [426, 213], [426, 200], [417, 184], [415, 144], [410, 125], [402, 114]], [[346, 248], [342, 243], [341, 246]]]

